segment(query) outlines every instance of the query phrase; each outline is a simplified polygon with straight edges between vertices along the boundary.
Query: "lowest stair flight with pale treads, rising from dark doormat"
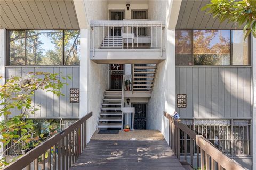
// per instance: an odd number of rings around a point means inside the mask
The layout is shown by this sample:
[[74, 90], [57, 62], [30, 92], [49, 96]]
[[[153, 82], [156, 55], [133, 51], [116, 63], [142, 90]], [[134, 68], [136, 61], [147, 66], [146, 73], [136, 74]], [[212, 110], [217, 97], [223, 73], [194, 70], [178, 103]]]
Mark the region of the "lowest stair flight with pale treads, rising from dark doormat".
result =
[[101, 107], [98, 128], [122, 128], [122, 91], [106, 91]]

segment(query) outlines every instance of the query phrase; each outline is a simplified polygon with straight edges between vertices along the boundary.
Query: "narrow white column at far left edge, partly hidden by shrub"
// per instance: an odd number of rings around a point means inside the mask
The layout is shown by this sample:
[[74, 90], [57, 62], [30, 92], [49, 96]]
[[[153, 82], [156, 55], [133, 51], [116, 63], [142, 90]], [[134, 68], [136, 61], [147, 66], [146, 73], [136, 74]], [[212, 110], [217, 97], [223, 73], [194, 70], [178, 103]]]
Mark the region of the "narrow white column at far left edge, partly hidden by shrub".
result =
[[[6, 30], [0, 29], [0, 76], [5, 77], [5, 57], [6, 56]], [[5, 83], [5, 78], [0, 79], [0, 85]], [[1, 100], [0, 100], [0, 103]], [[0, 121], [4, 120], [4, 116], [0, 117]], [[0, 144], [0, 152], [4, 151], [3, 143]], [[0, 157], [2, 158], [2, 157]]]

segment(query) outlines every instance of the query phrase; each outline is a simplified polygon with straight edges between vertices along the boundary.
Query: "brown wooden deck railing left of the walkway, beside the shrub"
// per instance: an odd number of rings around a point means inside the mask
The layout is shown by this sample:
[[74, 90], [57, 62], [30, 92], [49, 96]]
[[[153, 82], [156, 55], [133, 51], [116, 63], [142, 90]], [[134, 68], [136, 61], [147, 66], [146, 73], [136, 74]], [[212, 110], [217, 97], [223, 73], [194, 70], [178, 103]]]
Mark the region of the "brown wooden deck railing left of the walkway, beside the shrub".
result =
[[91, 116], [92, 112], [30, 150], [3, 170], [69, 169], [86, 147], [86, 122]]

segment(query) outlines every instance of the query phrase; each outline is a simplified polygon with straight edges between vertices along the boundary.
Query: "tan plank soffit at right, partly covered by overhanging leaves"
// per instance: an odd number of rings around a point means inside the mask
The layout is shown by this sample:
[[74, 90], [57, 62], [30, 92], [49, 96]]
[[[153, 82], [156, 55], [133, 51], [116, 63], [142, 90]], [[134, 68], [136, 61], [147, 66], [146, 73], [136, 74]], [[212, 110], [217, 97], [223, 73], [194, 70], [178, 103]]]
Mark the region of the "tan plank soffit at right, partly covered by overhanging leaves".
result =
[[212, 14], [202, 11], [201, 8], [210, 3], [209, 0], [182, 0], [177, 29], [239, 29], [234, 22], [227, 20], [220, 23]]

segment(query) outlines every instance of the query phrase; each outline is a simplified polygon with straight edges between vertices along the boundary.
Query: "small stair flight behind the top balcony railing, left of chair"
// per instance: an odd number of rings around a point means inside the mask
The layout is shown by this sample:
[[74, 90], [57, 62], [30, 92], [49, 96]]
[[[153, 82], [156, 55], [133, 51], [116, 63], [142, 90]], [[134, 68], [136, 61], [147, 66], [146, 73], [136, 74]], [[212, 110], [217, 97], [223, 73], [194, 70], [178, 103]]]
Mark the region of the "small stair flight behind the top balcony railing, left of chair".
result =
[[100, 45], [100, 48], [122, 48], [122, 36], [106, 36]]

